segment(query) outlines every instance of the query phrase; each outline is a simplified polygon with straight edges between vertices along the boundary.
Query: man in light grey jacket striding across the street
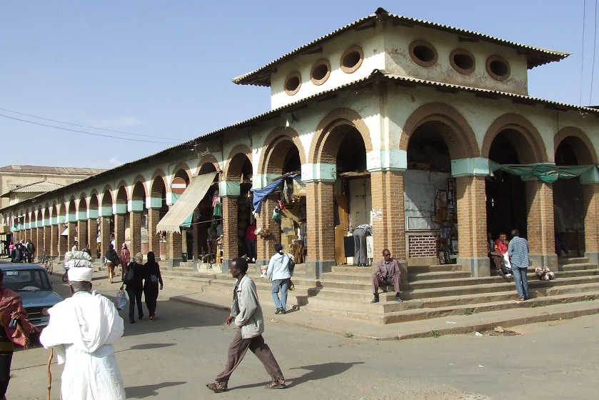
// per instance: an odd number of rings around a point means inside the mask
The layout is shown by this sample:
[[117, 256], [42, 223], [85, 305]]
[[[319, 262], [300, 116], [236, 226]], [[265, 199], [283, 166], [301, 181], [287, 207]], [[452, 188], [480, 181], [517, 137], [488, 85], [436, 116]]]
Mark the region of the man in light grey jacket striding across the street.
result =
[[233, 291], [231, 315], [227, 317], [226, 324], [230, 325], [234, 321], [239, 329], [228, 346], [225, 369], [216, 376], [215, 382], [206, 384], [206, 387], [215, 393], [227, 391], [228, 379], [250, 349], [271, 376], [272, 381], [265, 386], [266, 389], [282, 389], [285, 387], [285, 378], [275, 356], [262, 337], [264, 332], [262, 307], [258, 301], [256, 284], [247, 274], [248, 261], [241, 257], [233, 259], [228, 271], [233, 278], [237, 279], [237, 284]]

